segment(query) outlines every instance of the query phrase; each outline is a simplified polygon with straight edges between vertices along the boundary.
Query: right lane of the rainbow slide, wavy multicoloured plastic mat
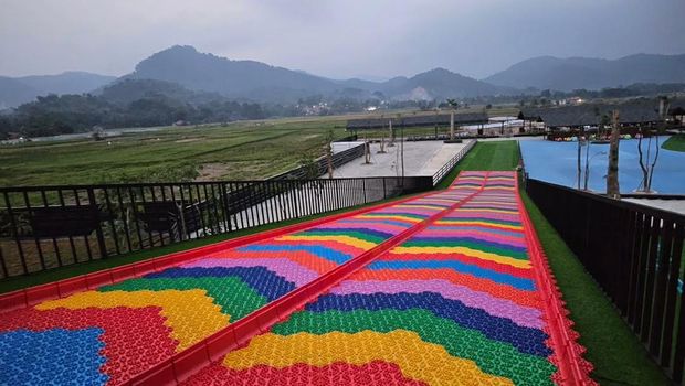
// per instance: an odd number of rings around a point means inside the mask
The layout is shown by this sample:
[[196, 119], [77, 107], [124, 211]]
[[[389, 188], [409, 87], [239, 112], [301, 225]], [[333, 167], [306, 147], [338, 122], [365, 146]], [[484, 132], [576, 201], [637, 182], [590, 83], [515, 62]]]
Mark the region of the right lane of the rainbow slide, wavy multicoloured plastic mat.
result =
[[554, 384], [515, 178], [463, 173], [474, 197], [187, 383]]

